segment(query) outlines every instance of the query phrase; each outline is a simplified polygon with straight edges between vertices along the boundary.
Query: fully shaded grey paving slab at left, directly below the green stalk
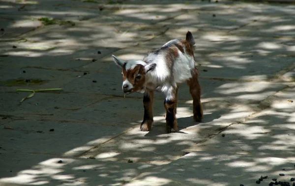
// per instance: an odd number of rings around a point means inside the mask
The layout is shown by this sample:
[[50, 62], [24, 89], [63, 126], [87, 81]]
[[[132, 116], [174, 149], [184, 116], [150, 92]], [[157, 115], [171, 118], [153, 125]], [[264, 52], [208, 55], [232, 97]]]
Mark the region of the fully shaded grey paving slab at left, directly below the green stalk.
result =
[[107, 96], [83, 95], [71, 93], [44, 93], [37, 92], [24, 102], [20, 101], [27, 97], [30, 92], [1, 92], [3, 98], [0, 102], [0, 113], [14, 117], [26, 118], [26, 115], [38, 115], [45, 119], [60, 118], [81, 108], [106, 99]]

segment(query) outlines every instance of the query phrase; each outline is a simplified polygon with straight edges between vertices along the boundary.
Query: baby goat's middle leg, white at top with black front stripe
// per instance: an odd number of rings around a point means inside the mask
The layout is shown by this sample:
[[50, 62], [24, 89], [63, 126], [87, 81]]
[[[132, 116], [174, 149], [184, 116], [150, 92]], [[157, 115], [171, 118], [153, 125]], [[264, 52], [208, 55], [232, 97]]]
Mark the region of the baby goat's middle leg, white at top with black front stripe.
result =
[[164, 102], [164, 106], [166, 108], [167, 133], [177, 132], [177, 119], [176, 119], [177, 90], [178, 90], [178, 87], [169, 87], [168, 91], [166, 92], [166, 99]]

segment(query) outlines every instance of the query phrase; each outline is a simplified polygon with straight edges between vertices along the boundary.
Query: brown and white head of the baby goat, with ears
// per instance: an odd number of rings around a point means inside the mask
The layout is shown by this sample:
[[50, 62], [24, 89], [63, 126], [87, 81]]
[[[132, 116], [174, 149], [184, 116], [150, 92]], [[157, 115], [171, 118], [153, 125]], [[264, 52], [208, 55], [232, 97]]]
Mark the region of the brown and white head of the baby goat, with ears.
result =
[[123, 83], [122, 89], [125, 94], [132, 92], [144, 93], [146, 73], [155, 69], [155, 63], [146, 63], [141, 60], [124, 61], [112, 55], [115, 63], [122, 68]]

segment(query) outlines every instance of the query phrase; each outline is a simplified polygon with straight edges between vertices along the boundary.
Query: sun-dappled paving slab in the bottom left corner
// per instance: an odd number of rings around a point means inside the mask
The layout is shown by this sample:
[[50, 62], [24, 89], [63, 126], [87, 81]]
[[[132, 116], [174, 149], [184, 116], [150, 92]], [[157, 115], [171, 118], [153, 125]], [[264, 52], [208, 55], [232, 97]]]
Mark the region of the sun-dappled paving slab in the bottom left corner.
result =
[[[21, 185], [122, 185], [152, 165], [101, 161], [99, 159], [73, 159], [42, 157], [33, 167], [27, 166], [13, 177], [1, 178], [1, 186]], [[62, 160], [62, 163], [58, 163]]]

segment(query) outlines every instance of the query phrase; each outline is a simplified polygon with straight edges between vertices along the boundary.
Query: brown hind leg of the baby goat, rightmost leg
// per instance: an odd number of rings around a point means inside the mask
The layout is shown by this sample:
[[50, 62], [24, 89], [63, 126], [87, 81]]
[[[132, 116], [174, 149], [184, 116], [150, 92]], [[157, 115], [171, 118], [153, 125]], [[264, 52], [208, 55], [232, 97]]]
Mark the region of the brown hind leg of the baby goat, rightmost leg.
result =
[[195, 68], [192, 73], [192, 78], [187, 80], [189, 92], [193, 98], [194, 120], [201, 122], [203, 119], [203, 108], [201, 105], [201, 87], [198, 81], [198, 70]]

